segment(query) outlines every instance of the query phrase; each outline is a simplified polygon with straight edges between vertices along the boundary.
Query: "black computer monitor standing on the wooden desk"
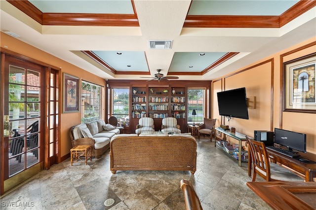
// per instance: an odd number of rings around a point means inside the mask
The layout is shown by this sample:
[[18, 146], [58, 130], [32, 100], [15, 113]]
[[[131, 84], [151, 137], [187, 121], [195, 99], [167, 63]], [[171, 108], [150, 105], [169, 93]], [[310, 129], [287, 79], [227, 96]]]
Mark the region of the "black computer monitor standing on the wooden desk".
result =
[[306, 134], [275, 128], [275, 143], [306, 153]]

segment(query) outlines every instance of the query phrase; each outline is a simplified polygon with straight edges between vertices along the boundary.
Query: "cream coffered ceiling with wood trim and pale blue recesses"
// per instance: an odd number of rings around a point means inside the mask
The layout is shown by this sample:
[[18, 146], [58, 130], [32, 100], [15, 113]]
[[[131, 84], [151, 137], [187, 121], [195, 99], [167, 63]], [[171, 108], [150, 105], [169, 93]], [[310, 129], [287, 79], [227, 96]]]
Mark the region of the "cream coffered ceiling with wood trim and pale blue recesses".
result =
[[316, 35], [315, 0], [1, 0], [0, 29], [105, 79], [212, 80]]

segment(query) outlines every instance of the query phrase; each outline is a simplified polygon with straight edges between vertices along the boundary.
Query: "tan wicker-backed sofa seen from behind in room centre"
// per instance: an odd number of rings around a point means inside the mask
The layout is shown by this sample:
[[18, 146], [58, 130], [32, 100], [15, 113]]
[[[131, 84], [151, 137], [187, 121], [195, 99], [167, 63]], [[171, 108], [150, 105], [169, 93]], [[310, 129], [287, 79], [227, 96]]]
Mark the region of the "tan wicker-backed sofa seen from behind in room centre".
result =
[[110, 142], [110, 170], [197, 170], [197, 142], [185, 135], [116, 135]]

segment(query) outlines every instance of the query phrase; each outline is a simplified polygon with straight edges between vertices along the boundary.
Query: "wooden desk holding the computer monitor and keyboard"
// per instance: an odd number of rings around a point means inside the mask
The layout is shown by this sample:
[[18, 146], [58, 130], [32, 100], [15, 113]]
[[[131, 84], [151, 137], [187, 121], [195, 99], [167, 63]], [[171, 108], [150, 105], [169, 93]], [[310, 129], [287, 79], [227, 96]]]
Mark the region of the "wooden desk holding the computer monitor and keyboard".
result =
[[[298, 158], [290, 158], [286, 155], [283, 155], [279, 152], [273, 151], [267, 148], [270, 162], [280, 163], [305, 177], [305, 181], [313, 181], [316, 178], [316, 163], [303, 163], [299, 161]], [[303, 153], [299, 152], [302, 157], [308, 158], [309, 160], [316, 162], [316, 155], [312, 153]], [[248, 175], [251, 176], [251, 155], [248, 155]]]

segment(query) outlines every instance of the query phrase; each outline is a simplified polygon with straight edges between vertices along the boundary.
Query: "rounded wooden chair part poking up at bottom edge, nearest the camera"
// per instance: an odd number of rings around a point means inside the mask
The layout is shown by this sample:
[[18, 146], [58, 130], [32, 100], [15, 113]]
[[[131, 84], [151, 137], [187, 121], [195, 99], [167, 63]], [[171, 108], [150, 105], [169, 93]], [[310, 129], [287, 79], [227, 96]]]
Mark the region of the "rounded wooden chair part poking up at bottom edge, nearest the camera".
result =
[[201, 203], [197, 197], [197, 193], [192, 187], [190, 181], [182, 179], [180, 181], [180, 188], [183, 191], [184, 201], [187, 210], [203, 210]]

